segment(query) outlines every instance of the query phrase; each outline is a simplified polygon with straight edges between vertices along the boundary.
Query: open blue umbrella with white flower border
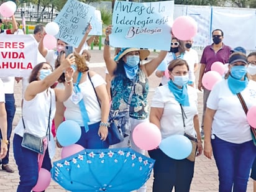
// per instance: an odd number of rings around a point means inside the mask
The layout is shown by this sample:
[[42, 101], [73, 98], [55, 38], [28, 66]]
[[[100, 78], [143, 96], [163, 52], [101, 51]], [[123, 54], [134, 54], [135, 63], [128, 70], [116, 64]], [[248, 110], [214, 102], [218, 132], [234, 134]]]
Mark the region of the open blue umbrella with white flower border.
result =
[[85, 149], [54, 162], [51, 173], [69, 191], [133, 191], [150, 178], [154, 163], [130, 148]]

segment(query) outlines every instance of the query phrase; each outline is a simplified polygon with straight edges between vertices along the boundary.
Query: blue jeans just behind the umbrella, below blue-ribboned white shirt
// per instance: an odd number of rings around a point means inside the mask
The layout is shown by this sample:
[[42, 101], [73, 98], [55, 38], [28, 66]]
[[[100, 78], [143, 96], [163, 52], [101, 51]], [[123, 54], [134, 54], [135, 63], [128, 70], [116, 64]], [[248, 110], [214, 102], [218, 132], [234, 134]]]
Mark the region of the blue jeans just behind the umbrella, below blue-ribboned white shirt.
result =
[[109, 144], [101, 140], [98, 135], [99, 122], [89, 125], [88, 132], [85, 132], [85, 127], [81, 127], [81, 137], [76, 144], [83, 146], [85, 149], [107, 149]]

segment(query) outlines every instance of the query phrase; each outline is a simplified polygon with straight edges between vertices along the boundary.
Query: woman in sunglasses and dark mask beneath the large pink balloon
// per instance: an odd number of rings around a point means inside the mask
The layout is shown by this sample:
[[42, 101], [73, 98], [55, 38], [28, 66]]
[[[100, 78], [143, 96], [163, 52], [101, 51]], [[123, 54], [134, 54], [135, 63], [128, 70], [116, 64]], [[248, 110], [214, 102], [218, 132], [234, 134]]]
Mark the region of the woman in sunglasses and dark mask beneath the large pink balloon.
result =
[[[165, 60], [161, 65], [158, 66], [157, 70], [155, 71], [155, 75], [162, 78], [161, 85], [167, 85], [169, 79], [167, 76], [165, 76], [165, 70], [167, 70], [168, 65], [167, 63], [170, 63], [172, 60], [175, 60], [176, 58], [184, 58], [185, 54], [185, 46], [184, 43], [181, 40], [178, 40], [176, 37], [173, 37], [171, 39], [171, 48], [170, 52], [167, 53], [167, 56], [165, 57]], [[164, 65], [164, 66], [162, 66]], [[165, 69], [163, 71], [163, 68]]]

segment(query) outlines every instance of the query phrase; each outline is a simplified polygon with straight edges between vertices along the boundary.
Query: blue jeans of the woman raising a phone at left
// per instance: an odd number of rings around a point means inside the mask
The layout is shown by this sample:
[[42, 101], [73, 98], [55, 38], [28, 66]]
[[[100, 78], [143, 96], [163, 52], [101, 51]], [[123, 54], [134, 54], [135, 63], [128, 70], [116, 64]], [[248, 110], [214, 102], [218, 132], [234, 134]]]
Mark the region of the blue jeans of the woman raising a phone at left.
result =
[[[37, 184], [37, 179], [39, 176], [39, 163], [37, 161], [38, 153], [22, 147], [21, 142], [22, 137], [14, 134], [13, 152], [20, 175], [20, 182], [17, 192], [29, 192]], [[48, 171], [50, 171], [52, 168], [48, 149], [46, 150], [43, 158], [42, 168], [45, 168]]]

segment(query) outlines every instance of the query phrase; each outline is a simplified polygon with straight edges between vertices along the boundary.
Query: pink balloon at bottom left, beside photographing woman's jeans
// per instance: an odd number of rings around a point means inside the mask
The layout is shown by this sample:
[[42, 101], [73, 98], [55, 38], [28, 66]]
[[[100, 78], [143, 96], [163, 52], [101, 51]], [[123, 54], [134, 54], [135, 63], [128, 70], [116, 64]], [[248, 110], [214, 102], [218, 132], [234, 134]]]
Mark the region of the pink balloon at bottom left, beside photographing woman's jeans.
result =
[[45, 168], [40, 168], [39, 178], [37, 184], [34, 186], [33, 191], [44, 191], [51, 182], [51, 173]]

